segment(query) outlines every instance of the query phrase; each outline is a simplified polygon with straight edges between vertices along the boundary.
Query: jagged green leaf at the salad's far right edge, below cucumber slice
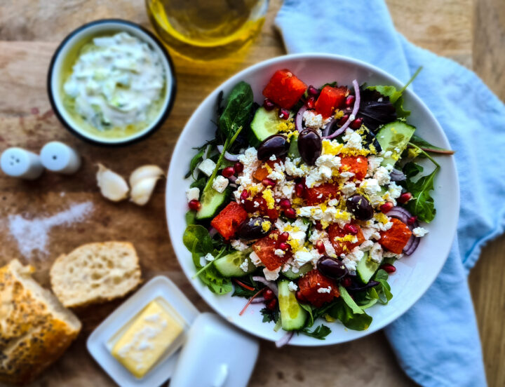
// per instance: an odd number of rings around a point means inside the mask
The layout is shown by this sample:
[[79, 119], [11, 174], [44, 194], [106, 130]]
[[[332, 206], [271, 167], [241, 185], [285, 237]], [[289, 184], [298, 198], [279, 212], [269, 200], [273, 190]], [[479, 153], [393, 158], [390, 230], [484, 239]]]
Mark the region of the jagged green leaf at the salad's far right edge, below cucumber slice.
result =
[[433, 172], [420, 177], [416, 182], [412, 180], [413, 176], [405, 180], [405, 188], [412, 194], [412, 199], [408, 201], [406, 207], [422, 222], [429, 223], [436, 215], [435, 203], [430, 192], [435, 189], [433, 182], [439, 169], [437, 166]]

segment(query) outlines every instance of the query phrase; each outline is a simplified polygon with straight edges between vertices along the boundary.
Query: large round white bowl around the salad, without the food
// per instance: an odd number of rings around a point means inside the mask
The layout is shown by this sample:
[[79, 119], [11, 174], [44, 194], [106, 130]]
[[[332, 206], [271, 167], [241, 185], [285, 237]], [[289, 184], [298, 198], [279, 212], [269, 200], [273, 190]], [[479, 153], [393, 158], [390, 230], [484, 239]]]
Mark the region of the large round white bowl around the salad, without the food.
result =
[[[191, 253], [182, 243], [182, 235], [186, 228], [184, 215], [188, 210], [185, 191], [191, 184], [190, 179], [184, 179], [184, 175], [189, 169], [189, 161], [195, 154], [193, 147], [200, 146], [215, 135], [216, 127], [211, 121], [215, 121], [218, 93], [223, 90], [224, 95], [227, 95], [236, 83], [245, 81], [253, 88], [255, 102], [261, 104], [264, 98], [262, 90], [278, 69], [290, 69], [304, 83], [316, 87], [332, 81], [337, 81], [341, 85], [351, 85], [353, 79], [357, 79], [360, 84], [392, 85], [396, 88], [403, 86], [400, 81], [381, 69], [349, 57], [314, 53], [285, 55], [255, 64], [222, 83], [201, 103], [182, 130], [173, 151], [166, 186], [168, 230], [177, 259], [196, 291], [217, 313], [246, 332], [271, 341], [280, 339], [285, 332], [283, 330], [274, 332], [273, 322], [262, 322], [260, 314], [260, 309], [264, 307], [262, 304], [250, 305], [243, 315], [238, 315], [245, 305], [244, 298], [231, 297], [231, 294], [219, 296], [210, 292], [198, 278], [191, 279], [196, 271], [191, 261]], [[409, 89], [405, 90], [403, 95], [404, 106], [412, 111], [408, 123], [417, 127], [416, 133], [432, 144], [449, 148], [447, 137], [424, 102]], [[433, 191], [436, 217], [430, 224], [422, 224], [429, 233], [422, 238], [417, 250], [410, 257], [403, 257], [396, 262], [396, 273], [389, 277], [393, 293], [393, 299], [389, 304], [385, 306], [376, 304], [367, 309], [367, 313], [373, 318], [368, 330], [349, 330], [340, 322], [325, 322], [325, 325], [332, 330], [325, 340], [299, 334], [292, 337], [290, 344], [325, 346], [359, 339], [380, 330], [400, 317], [428, 290], [447, 259], [459, 213], [459, 185], [454, 157], [440, 156], [437, 157], [437, 161], [442, 168], [436, 177]], [[431, 166], [426, 165], [425, 172], [430, 172]], [[314, 324], [314, 327], [316, 325], [318, 323]]]

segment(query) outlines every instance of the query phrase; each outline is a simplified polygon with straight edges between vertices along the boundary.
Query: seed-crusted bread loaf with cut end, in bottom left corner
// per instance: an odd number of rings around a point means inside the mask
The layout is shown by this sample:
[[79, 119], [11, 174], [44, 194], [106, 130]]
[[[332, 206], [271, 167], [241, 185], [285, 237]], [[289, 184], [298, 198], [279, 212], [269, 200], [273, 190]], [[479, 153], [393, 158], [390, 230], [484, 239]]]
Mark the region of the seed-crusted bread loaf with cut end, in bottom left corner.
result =
[[78, 318], [14, 259], [0, 268], [0, 381], [25, 384], [48, 367], [81, 330]]

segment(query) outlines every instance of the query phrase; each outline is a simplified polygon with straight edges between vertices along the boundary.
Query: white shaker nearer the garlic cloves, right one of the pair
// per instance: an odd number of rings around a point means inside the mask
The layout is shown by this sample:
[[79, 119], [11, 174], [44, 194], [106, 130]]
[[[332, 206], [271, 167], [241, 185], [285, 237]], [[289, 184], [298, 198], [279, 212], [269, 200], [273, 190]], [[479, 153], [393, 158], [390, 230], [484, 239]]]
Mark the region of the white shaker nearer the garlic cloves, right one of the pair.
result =
[[81, 167], [81, 156], [59, 141], [48, 142], [41, 150], [42, 165], [53, 172], [72, 175]]

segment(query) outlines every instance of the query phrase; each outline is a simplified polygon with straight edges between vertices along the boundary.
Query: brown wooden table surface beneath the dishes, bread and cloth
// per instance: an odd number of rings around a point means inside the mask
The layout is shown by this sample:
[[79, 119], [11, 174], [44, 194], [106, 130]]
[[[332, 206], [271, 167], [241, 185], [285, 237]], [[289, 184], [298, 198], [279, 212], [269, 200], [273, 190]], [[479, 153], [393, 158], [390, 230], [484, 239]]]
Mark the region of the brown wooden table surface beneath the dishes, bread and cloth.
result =
[[[505, 3], [503, 0], [388, 0], [396, 27], [411, 41], [451, 57], [476, 71], [505, 99]], [[0, 263], [12, 258], [31, 262], [36, 278], [48, 285], [51, 262], [82, 243], [130, 240], [140, 254], [144, 278], [163, 273], [202, 311], [198, 297], [175, 259], [164, 216], [164, 186], [157, 186], [144, 208], [105, 201], [95, 184], [95, 163], [128, 175], [144, 163], [166, 168], [177, 136], [190, 114], [211, 90], [238, 70], [285, 50], [273, 27], [280, 0], [271, 1], [262, 34], [245, 55], [220, 63], [192, 64], [174, 57], [178, 93], [170, 118], [148, 140], [123, 149], [93, 147], [76, 140], [50, 111], [46, 71], [61, 39], [84, 22], [125, 18], [149, 27], [142, 0], [2, 0], [0, 1], [0, 151], [20, 146], [38, 152], [49, 140], [72, 144], [83, 155], [74, 176], [52, 173], [34, 182], [0, 175]], [[31, 219], [92, 201], [93, 213], [83, 222], [57, 226], [50, 232], [48, 252], [23, 257], [8, 232], [9, 215]], [[505, 238], [490, 243], [469, 278], [476, 306], [490, 386], [505, 385]], [[113, 386], [88, 355], [85, 342], [93, 328], [122, 300], [79, 311], [83, 332], [69, 351], [34, 386]], [[436, 338], [433, 338], [436, 339]], [[323, 348], [277, 350], [262, 342], [250, 386], [411, 386], [387, 344], [377, 332], [349, 344]]]

